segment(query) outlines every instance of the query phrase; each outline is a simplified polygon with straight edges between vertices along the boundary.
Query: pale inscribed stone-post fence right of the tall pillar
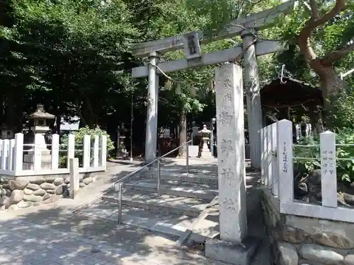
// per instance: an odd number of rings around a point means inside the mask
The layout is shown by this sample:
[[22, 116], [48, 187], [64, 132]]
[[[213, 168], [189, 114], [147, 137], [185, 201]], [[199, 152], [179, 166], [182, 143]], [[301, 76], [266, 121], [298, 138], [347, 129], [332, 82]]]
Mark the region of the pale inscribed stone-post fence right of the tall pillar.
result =
[[325, 131], [320, 135], [320, 204], [294, 199], [292, 136], [292, 122], [287, 119], [261, 130], [261, 174], [265, 196], [280, 213], [354, 223], [354, 208], [338, 206], [336, 134]]

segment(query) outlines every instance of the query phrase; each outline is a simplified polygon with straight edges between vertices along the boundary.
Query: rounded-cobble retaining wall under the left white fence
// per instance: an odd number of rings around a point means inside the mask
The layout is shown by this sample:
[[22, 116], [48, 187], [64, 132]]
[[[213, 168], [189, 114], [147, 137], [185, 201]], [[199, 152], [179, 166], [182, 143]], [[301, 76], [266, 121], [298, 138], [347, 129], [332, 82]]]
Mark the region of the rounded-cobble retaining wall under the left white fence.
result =
[[[79, 175], [79, 187], [86, 187], [94, 182], [100, 172], [91, 172]], [[0, 197], [0, 211], [28, 208], [44, 202], [53, 197], [69, 196], [69, 174], [38, 175], [25, 177], [3, 177], [3, 189], [6, 196]]]

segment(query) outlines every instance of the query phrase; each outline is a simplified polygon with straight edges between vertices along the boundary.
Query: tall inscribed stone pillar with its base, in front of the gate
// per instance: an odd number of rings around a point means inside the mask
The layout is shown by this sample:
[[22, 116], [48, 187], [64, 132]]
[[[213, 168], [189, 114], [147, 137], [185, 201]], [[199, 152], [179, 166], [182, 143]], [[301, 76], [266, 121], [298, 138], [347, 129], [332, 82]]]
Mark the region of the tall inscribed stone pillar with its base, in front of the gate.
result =
[[224, 64], [215, 69], [220, 240], [208, 240], [205, 256], [231, 264], [251, 261], [257, 240], [246, 238], [246, 167], [242, 69]]

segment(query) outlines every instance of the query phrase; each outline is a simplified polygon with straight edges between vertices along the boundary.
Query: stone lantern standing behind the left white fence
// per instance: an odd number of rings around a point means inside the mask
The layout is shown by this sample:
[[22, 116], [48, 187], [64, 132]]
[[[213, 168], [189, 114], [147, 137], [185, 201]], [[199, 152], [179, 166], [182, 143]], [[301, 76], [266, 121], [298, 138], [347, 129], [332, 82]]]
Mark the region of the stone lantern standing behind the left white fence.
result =
[[[52, 156], [47, 148], [47, 143], [45, 143], [45, 134], [50, 131], [49, 126], [47, 126], [47, 119], [55, 119], [55, 115], [45, 112], [43, 105], [38, 104], [37, 110], [30, 114], [28, 119], [33, 119], [33, 126], [30, 129], [35, 134], [35, 146], [30, 148], [23, 157], [24, 170], [34, 169], [35, 153], [40, 153], [41, 169], [50, 170], [52, 168]], [[36, 149], [38, 152], [35, 151]]]

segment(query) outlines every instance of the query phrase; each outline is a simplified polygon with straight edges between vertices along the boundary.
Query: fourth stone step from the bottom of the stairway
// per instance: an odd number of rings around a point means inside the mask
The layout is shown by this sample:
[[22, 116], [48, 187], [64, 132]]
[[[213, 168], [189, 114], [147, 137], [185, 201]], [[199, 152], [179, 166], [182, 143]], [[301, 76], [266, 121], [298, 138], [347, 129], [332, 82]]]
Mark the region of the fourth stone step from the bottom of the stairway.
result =
[[[171, 180], [176, 182], [200, 183], [200, 184], [215, 184], [217, 185], [217, 175], [206, 175], [202, 172], [166, 172], [161, 170], [161, 179]], [[140, 174], [142, 179], [156, 179], [157, 171], [149, 170]]]

